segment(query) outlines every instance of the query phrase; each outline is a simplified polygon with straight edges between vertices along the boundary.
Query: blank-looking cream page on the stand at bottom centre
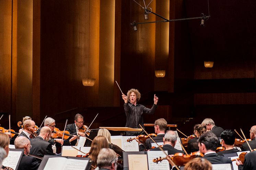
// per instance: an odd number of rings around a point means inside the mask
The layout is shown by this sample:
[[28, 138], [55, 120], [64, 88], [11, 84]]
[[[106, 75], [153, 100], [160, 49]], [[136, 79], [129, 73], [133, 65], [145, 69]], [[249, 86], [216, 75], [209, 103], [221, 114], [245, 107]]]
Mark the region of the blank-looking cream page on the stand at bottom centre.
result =
[[129, 170], [148, 170], [147, 155], [128, 155]]

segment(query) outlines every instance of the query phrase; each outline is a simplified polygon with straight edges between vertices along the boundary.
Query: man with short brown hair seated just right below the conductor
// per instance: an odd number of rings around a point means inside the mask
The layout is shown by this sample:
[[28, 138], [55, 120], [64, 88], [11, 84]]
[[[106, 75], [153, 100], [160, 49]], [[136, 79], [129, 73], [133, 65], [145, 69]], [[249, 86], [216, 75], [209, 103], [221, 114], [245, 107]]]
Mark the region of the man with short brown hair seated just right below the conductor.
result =
[[[153, 139], [163, 139], [164, 135], [165, 135], [165, 130], [167, 127], [167, 122], [165, 119], [157, 119], [155, 121], [155, 133], [157, 134], [157, 136], [153, 137]], [[150, 149], [150, 138], [146, 139], [146, 142], [144, 143], [144, 146], [142, 144], [141, 141], [139, 141], [137, 138], [135, 138], [135, 140], [139, 143], [139, 150], [144, 150], [144, 149]]]

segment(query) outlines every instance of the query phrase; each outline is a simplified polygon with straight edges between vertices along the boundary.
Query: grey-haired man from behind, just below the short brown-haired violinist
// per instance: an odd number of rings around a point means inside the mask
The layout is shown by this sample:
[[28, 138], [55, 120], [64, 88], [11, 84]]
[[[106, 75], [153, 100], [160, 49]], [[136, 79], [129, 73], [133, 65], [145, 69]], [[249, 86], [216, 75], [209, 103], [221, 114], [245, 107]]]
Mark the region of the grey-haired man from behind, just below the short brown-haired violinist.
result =
[[[168, 151], [168, 155], [174, 155], [175, 153], [185, 153], [183, 150], [175, 149], [174, 146], [177, 142], [177, 134], [174, 131], [167, 131], [163, 137], [164, 146], [163, 150]], [[160, 150], [158, 147], [150, 150]]]

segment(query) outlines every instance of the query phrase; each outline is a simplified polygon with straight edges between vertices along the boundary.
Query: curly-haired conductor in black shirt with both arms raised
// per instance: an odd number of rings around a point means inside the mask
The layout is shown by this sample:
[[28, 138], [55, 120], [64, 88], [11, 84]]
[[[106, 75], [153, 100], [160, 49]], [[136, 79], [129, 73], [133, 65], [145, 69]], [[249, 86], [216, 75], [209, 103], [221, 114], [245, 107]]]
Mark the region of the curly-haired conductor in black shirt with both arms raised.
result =
[[[140, 100], [140, 92], [137, 89], [130, 89], [127, 92], [127, 96], [125, 94], [122, 95], [123, 100], [125, 101], [124, 109], [126, 114], [126, 125], [125, 127], [131, 128], [140, 128], [139, 124], [144, 128], [143, 121], [143, 113], [154, 114], [156, 109], [156, 104], [158, 102], [158, 97], [154, 95], [154, 104], [151, 109], [146, 108], [143, 105], [137, 104]], [[126, 132], [126, 136], [137, 136], [143, 134], [143, 132], [130, 131]]]

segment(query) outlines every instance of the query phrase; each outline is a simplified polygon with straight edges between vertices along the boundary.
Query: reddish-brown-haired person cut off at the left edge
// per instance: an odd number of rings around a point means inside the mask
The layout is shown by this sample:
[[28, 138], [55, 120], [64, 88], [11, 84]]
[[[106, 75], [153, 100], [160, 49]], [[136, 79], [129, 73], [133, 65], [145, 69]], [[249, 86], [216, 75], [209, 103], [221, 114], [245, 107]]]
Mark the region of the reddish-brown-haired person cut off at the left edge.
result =
[[[9, 136], [5, 133], [0, 133], [0, 148], [4, 149], [4, 150], [2, 150], [4, 158], [6, 158], [9, 154], [9, 150], [10, 150], [9, 144], [10, 144]], [[2, 170], [13, 170], [13, 169], [2, 165]]]

